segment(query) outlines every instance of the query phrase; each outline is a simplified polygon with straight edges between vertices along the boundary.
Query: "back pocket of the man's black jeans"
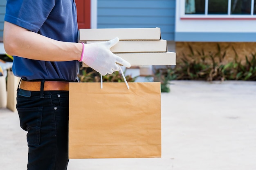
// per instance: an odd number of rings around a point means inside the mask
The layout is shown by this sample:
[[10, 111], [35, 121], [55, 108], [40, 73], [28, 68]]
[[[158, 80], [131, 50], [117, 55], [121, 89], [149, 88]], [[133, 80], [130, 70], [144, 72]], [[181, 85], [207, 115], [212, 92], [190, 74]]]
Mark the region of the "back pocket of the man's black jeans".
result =
[[42, 122], [43, 107], [19, 108], [20, 127], [27, 131], [28, 145], [40, 144], [40, 126]]

